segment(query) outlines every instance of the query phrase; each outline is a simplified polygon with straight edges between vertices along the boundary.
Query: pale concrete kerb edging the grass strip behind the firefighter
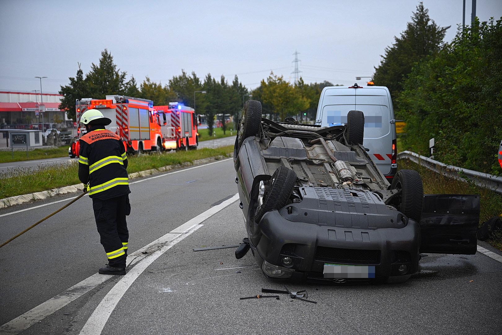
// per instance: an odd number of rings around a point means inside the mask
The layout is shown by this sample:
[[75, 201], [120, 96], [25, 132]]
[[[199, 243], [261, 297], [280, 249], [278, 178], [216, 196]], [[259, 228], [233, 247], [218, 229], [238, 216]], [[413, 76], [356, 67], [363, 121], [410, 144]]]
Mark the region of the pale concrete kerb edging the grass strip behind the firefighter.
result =
[[[129, 179], [137, 179], [137, 178], [147, 177], [147, 176], [151, 176], [153, 174], [176, 170], [176, 169], [181, 169], [181, 168], [188, 167], [188, 166], [203, 165], [203, 164], [219, 161], [221, 159], [228, 158], [228, 157], [233, 157], [233, 154], [230, 153], [230, 154], [226, 154], [224, 156], [218, 155], [218, 156], [213, 156], [213, 157], [208, 157], [208, 158], [197, 159], [197, 160], [193, 161], [193, 163], [185, 162], [182, 164], [163, 166], [158, 169], [150, 169], [150, 170], [135, 172], [135, 173], [131, 173], [129, 175]], [[0, 208], [7, 208], [10, 206], [14, 206], [14, 205], [20, 205], [22, 203], [30, 202], [30, 201], [44, 200], [44, 199], [47, 199], [47, 198], [50, 198], [50, 197], [53, 197], [53, 196], [59, 195], [59, 194], [82, 192], [82, 190], [83, 190], [83, 185], [76, 184], [76, 185], [64, 186], [64, 187], [59, 187], [59, 188], [53, 188], [53, 189], [50, 189], [47, 191], [11, 196], [8, 198], [0, 199]]]

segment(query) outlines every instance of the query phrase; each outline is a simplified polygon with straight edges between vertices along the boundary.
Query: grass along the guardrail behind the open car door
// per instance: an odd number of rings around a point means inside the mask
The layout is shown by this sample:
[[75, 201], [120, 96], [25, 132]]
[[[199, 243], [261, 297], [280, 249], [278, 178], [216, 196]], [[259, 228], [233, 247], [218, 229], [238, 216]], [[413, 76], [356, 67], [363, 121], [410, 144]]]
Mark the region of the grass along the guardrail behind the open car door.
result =
[[[502, 195], [487, 188], [481, 188], [474, 183], [454, 180], [439, 173], [432, 172], [407, 159], [399, 160], [400, 169], [417, 170], [422, 176], [424, 193], [428, 194], [479, 194], [481, 196], [481, 208], [479, 212], [479, 226], [493, 216], [502, 212]], [[502, 234], [498, 234], [491, 241], [493, 247], [502, 249]]]

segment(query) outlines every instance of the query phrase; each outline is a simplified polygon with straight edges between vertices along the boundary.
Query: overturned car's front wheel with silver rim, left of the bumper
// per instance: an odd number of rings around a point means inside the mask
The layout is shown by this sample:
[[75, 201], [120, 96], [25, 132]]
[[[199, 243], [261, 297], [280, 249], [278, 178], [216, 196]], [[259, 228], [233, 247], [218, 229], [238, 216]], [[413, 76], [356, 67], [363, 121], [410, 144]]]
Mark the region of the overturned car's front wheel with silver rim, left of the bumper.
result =
[[255, 221], [260, 222], [262, 216], [269, 210], [284, 207], [289, 201], [291, 192], [293, 192], [295, 182], [295, 171], [284, 166], [279, 167], [274, 172], [272, 178], [268, 181], [270, 185], [266, 185], [266, 181], [261, 181]]

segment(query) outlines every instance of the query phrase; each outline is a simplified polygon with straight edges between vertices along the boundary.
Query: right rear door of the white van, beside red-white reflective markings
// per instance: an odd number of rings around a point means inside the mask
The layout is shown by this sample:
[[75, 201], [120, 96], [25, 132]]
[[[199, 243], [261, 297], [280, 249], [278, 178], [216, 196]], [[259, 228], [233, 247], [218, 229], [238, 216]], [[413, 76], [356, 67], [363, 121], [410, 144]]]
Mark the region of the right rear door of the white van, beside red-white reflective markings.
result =
[[383, 88], [354, 89], [355, 108], [364, 113], [364, 142], [368, 155], [383, 174], [391, 173], [392, 131], [388, 91]]

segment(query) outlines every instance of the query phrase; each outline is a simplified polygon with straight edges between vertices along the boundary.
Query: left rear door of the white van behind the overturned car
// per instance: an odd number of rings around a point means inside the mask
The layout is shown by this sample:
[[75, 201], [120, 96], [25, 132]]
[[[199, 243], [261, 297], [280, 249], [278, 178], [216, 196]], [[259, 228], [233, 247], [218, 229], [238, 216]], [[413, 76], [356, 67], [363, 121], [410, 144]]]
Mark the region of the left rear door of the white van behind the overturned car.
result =
[[349, 110], [355, 109], [355, 88], [326, 88], [320, 113], [317, 111], [316, 121], [323, 127], [344, 125], [347, 123]]

